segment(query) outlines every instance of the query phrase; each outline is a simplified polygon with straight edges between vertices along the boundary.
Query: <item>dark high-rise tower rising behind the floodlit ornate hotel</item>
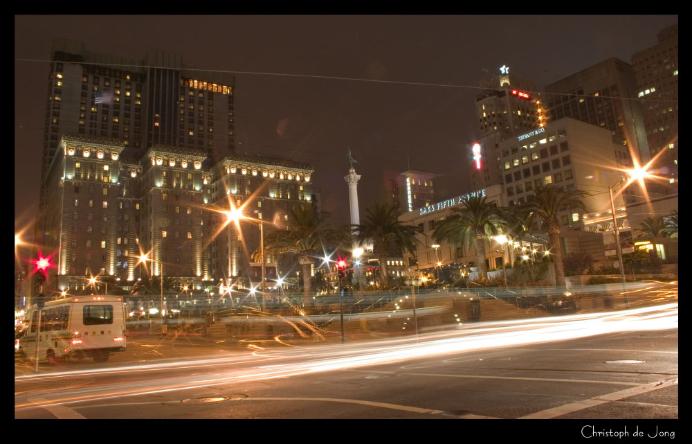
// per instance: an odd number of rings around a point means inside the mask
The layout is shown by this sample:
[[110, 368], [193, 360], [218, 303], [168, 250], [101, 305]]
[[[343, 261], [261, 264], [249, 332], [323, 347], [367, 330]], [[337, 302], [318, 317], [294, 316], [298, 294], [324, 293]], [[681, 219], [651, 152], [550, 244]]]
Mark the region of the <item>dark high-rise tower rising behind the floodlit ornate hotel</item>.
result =
[[[116, 139], [126, 152], [140, 156], [158, 144], [221, 159], [234, 148], [234, 85], [233, 76], [195, 71], [172, 53], [147, 51], [136, 61], [55, 39], [42, 178], [64, 134]], [[45, 204], [42, 184], [41, 206]]]

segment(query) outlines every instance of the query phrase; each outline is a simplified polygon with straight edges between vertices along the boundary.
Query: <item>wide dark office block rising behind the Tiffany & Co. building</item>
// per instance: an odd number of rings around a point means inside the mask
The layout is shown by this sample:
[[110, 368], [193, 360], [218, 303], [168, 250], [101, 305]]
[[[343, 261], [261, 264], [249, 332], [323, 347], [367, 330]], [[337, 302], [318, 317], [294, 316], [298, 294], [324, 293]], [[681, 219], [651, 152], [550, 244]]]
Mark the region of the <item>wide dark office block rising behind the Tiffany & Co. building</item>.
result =
[[646, 163], [650, 154], [636, 98], [632, 66], [614, 57], [545, 87], [549, 122], [570, 117], [604, 128], [615, 143], [627, 145], [639, 163]]

